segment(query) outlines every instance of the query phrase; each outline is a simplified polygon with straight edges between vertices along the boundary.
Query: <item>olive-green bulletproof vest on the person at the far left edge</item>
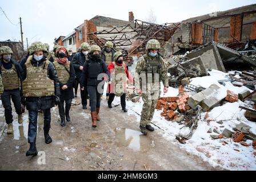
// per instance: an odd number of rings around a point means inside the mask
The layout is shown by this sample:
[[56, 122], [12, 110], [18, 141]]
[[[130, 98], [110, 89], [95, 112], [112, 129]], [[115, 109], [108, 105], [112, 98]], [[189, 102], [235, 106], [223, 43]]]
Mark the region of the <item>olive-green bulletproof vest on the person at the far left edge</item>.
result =
[[19, 80], [14, 64], [11, 69], [5, 69], [2, 65], [2, 80], [4, 90], [14, 90], [19, 88], [21, 81]]

